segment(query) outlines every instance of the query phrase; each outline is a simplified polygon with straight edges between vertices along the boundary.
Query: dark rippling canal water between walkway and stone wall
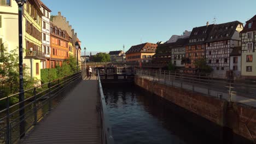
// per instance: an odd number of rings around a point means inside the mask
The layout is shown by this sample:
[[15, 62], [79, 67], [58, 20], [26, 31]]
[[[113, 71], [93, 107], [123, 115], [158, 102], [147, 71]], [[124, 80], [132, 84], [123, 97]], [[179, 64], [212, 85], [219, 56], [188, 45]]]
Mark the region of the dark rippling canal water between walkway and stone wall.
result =
[[167, 101], [135, 86], [103, 85], [115, 143], [223, 143], [172, 112]]

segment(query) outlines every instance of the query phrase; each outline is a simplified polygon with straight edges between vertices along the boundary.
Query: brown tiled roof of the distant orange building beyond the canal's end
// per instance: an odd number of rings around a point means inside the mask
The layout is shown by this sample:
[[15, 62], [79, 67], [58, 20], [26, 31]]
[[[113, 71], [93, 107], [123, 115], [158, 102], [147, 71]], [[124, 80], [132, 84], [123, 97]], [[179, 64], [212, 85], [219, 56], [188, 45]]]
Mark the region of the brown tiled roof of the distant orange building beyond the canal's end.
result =
[[[144, 43], [144, 44], [139, 44], [139, 45], [134, 45], [132, 46], [127, 52], [127, 53], [136, 53], [136, 52], [152, 52], [154, 53], [156, 50], [156, 47], [158, 45], [152, 44], [152, 43]], [[143, 49], [146, 49], [147, 51], [143, 51]], [[153, 49], [153, 50], [152, 50]]]

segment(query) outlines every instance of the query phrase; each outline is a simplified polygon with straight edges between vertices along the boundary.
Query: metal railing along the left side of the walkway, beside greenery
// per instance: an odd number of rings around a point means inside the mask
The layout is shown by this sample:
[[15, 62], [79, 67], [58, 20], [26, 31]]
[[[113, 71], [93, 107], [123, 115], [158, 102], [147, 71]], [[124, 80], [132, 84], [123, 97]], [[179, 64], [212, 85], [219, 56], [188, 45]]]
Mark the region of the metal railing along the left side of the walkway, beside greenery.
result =
[[[61, 99], [60, 93], [68, 86], [82, 80], [83, 72], [75, 73], [61, 79], [24, 91], [25, 99], [18, 101], [16, 93], [0, 99], [0, 143], [16, 143], [33, 125], [36, 125]], [[22, 111], [22, 112], [21, 112]]]

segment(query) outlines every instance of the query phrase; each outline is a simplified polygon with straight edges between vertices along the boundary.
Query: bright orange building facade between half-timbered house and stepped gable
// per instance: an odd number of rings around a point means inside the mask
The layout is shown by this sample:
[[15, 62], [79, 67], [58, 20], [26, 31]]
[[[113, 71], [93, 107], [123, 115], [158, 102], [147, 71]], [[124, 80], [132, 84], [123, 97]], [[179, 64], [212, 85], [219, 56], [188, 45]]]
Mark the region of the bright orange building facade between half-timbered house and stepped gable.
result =
[[63, 61], [69, 57], [69, 35], [66, 31], [55, 26], [52, 22], [50, 25], [51, 34], [51, 58], [47, 63], [48, 68], [55, 68], [56, 65], [62, 65]]

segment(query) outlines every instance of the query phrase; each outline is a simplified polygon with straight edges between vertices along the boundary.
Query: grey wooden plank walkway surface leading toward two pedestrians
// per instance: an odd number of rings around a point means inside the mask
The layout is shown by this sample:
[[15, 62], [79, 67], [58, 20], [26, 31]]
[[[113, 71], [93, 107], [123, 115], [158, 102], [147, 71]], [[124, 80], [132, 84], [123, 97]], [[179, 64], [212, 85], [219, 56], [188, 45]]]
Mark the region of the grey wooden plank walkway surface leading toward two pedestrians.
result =
[[97, 92], [96, 77], [82, 80], [20, 143], [101, 143]]

